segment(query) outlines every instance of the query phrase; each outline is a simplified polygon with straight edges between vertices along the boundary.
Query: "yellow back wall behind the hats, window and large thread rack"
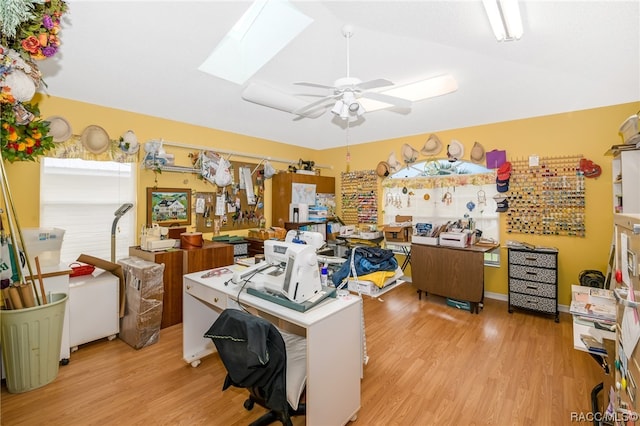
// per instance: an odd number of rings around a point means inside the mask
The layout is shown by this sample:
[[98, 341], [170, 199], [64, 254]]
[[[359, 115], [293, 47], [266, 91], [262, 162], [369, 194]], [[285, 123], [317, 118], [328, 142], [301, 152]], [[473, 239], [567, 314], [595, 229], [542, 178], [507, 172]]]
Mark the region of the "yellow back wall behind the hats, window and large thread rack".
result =
[[[559, 303], [568, 305], [571, 301], [571, 284], [577, 284], [577, 277], [584, 269], [607, 271], [607, 261], [613, 236], [613, 200], [611, 157], [604, 153], [613, 144], [621, 143], [618, 136], [620, 124], [640, 109], [640, 102], [575, 111], [524, 120], [493, 123], [483, 126], [467, 127], [437, 132], [446, 145], [451, 139], [457, 139], [465, 147], [465, 158], [475, 141], [480, 142], [486, 151], [505, 149], [507, 159], [526, 159], [529, 155], [541, 157], [579, 155], [594, 161], [602, 167], [602, 176], [586, 179], [586, 218], [587, 236], [553, 237], [524, 234], [507, 234], [505, 220], [501, 219], [500, 242], [504, 245], [508, 239], [526, 241], [534, 245], [553, 246], [559, 249]], [[371, 116], [373, 119], [373, 115]], [[375, 169], [379, 161], [386, 160], [389, 153], [395, 151], [401, 159], [400, 149], [408, 143], [420, 150], [428, 133], [389, 139], [365, 145], [351, 146], [350, 170]], [[372, 154], [375, 153], [375, 154]], [[319, 163], [331, 162], [335, 167], [337, 180], [340, 173], [347, 170], [346, 148], [324, 150], [317, 154]], [[380, 179], [378, 179], [381, 182]], [[339, 183], [337, 184], [339, 186]], [[382, 191], [380, 190], [381, 194]], [[487, 194], [492, 196], [493, 194]], [[339, 197], [338, 197], [339, 198]], [[339, 200], [338, 200], [339, 201]], [[380, 212], [382, 202], [379, 203]], [[338, 208], [338, 211], [339, 208]], [[382, 213], [380, 213], [380, 218]], [[501, 250], [502, 266], [485, 268], [485, 290], [507, 294], [506, 249]]]

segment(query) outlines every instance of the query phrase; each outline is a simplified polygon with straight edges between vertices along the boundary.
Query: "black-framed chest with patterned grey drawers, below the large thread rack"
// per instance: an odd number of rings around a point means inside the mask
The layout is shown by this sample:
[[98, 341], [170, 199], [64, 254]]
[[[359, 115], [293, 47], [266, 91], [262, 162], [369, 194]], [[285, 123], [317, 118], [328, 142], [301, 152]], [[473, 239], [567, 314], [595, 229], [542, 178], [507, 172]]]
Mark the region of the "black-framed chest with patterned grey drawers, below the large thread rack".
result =
[[509, 248], [509, 313], [513, 307], [560, 320], [557, 251]]

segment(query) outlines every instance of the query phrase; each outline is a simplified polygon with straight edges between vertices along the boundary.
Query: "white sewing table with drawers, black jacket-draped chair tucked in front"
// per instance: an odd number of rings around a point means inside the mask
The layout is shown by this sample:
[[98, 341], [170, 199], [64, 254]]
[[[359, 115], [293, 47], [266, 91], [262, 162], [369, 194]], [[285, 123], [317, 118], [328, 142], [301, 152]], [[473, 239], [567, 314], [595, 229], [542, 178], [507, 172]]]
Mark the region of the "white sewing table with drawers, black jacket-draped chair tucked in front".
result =
[[[231, 265], [217, 269], [235, 271], [244, 267]], [[344, 425], [356, 419], [363, 364], [360, 297], [330, 298], [306, 312], [298, 312], [245, 290], [240, 292], [241, 286], [230, 281], [231, 273], [204, 278], [206, 272], [187, 274], [183, 278], [183, 357], [186, 362], [197, 367], [203, 357], [216, 351], [211, 339], [203, 336], [222, 310], [239, 308], [239, 302], [276, 326], [306, 337], [306, 424]]]

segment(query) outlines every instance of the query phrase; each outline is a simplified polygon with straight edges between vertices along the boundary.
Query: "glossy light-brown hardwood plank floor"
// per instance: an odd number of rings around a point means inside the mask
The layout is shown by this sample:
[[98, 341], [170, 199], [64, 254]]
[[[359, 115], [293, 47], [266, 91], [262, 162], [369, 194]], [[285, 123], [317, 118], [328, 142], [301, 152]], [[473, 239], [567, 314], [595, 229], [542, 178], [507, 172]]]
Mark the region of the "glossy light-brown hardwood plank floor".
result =
[[[486, 300], [471, 315], [439, 297], [418, 300], [411, 285], [382, 299], [364, 299], [369, 362], [354, 425], [567, 425], [590, 411], [603, 372], [573, 349], [568, 314], [555, 323]], [[222, 392], [224, 375], [215, 354], [197, 368], [182, 360], [181, 324], [140, 350], [103, 339], [40, 389], [10, 394], [3, 384], [1, 424], [248, 424], [264, 411], [243, 408], [244, 390]]]

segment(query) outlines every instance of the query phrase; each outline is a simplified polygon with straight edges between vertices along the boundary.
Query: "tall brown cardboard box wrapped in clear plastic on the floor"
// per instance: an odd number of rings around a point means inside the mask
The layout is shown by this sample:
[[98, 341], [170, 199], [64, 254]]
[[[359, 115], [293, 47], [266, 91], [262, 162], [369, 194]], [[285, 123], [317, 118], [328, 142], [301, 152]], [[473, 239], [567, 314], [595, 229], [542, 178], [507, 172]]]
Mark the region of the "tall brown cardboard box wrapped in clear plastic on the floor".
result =
[[164, 264], [139, 257], [120, 259], [125, 277], [126, 309], [119, 338], [134, 349], [152, 345], [160, 337]]

